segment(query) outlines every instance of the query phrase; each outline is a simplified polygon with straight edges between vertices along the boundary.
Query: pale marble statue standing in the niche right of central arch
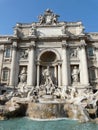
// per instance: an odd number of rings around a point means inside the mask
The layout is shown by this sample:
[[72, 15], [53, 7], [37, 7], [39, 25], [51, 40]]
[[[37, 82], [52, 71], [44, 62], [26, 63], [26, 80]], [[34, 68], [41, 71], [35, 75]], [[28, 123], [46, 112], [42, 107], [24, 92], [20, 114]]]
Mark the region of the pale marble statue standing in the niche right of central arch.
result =
[[73, 82], [79, 82], [79, 69], [77, 68], [77, 66], [74, 66], [73, 70], [72, 70], [72, 80]]

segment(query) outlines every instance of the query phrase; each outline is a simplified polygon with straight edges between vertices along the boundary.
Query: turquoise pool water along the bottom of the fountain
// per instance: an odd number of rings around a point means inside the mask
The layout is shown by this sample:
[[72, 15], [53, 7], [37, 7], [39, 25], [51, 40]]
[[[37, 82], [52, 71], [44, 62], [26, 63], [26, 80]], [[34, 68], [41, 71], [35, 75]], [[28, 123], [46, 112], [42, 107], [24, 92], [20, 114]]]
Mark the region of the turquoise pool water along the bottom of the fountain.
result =
[[98, 130], [98, 124], [78, 123], [67, 119], [33, 121], [27, 118], [17, 118], [0, 121], [0, 130]]

